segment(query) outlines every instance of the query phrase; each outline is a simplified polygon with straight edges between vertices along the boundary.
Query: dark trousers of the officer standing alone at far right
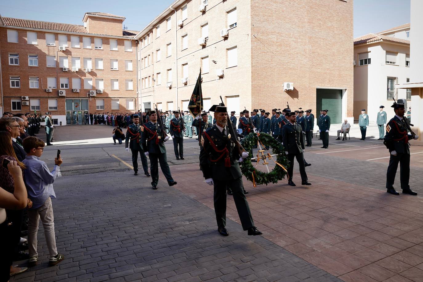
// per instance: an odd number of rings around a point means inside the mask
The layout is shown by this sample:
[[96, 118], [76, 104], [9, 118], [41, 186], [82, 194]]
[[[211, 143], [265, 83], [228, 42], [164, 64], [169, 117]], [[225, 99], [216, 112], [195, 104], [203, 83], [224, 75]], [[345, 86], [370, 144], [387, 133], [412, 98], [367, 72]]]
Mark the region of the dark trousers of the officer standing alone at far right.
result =
[[396, 171], [400, 165], [400, 180], [401, 189], [407, 190], [410, 188], [408, 185], [410, 179], [410, 154], [397, 153], [396, 156], [390, 155], [388, 170], [386, 172], [386, 188], [393, 188]]

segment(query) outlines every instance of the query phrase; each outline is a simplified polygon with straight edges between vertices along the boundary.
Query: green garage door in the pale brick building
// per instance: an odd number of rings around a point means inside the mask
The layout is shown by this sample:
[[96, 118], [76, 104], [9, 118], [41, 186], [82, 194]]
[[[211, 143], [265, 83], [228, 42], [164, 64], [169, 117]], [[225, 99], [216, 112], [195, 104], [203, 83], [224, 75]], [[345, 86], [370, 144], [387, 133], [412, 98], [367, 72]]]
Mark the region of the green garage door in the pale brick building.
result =
[[316, 89], [316, 114], [328, 110], [331, 123], [342, 123], [342, 90]]

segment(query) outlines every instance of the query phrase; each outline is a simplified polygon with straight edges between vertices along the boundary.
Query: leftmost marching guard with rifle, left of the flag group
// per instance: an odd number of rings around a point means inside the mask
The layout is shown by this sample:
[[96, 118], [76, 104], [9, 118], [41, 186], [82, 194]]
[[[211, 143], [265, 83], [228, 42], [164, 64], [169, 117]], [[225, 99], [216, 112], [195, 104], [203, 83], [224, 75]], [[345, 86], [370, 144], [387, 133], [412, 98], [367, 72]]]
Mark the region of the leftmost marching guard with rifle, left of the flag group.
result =
[[[143, 164], [144, 174], [150, 176], [148, 173], [147, 157], [144, 155], [143, 146], [140, 142], [143, 136], [144, 128], [140, 125], [140, 116], [132, 116], [133, 123], [126, 129], [125, 136], [125, 150], [126, 152], [131, 149], [132, 152], [132, 166], [134, 167], [134, 175], [138, 175], [138, 154], [141, 157], [141, 163]], [[128, 146], [129, 145], [129, 146]]]

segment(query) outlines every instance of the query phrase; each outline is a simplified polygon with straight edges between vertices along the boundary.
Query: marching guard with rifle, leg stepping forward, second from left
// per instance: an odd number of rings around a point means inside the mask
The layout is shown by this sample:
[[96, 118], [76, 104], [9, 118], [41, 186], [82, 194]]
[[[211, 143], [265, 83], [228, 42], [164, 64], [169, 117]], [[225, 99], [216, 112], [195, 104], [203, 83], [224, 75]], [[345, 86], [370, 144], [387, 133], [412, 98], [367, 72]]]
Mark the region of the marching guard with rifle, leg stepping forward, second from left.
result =
[[164, 128], [157, 121], [156, 111], [148, 112], [149, 121], [143, 125], [144, 131], [141, 137], [144, 154], [150, 158], [151, 171], [151, 186], [154, 190], [157, 189], [159, 182], [159, 162], [160, 168], [168, 181], [169, 186], [176, 184], [170, 174], [170, 168], [166, 157], [165, 143], [169, 137], [164, 133]]

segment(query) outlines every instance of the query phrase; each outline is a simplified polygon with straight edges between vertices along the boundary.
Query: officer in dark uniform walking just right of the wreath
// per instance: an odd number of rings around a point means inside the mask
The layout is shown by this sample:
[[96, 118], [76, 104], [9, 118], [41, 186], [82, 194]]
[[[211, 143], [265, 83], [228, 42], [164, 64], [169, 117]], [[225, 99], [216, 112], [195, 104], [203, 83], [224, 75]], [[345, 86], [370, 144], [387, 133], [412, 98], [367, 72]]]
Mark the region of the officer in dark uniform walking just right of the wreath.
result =
[[301, 126], [296, 123], [295, 112], [288, 113], [289, 122], [283, 126], [282, 138], [283, 147], [286, 148], [286, 154], [288, 155], [289, 168], [288, 168], [288, 184], [296, 186], [292, 176], [294, 171], [294, 158], [297, 159], [299, 164], [299, 173], [301, 175], [301, 185], [311, 185], [308, 182], [307, 173], [305, 172], [304, 164], [304, 134], [302, 133]]

